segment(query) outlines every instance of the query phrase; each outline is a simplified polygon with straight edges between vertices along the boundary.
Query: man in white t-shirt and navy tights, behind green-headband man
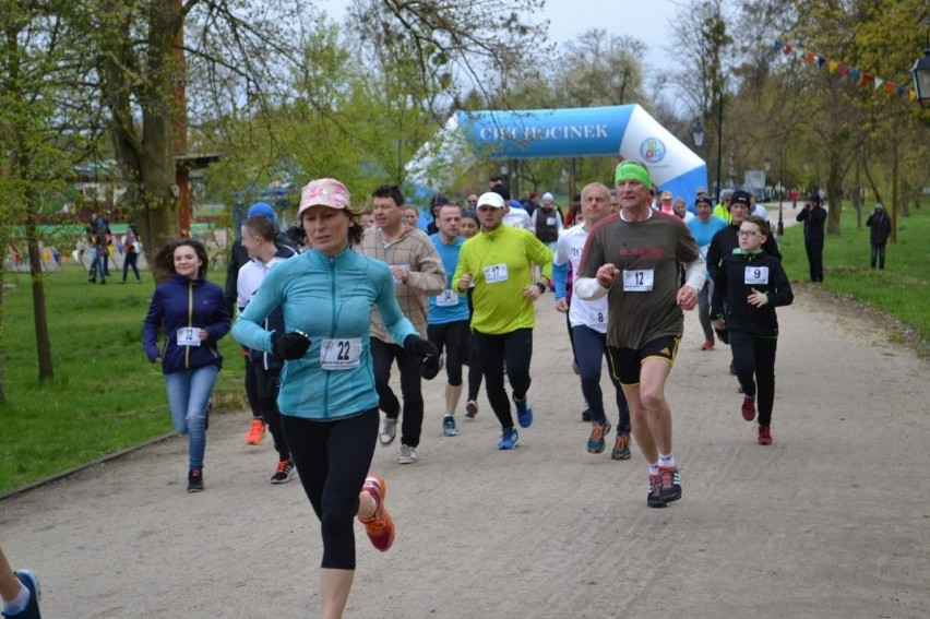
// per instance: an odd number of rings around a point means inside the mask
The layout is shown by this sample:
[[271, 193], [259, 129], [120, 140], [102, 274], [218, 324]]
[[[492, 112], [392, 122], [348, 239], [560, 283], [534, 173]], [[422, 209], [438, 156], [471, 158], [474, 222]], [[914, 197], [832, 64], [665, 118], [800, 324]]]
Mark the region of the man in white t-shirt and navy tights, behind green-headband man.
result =
[[[610, 421], [604, 412], [604, 394], [600, 390], [600, 368], [607, 352], [607, 297], [585, 301], [574, 294], [569, 296], [568, 271], [579, 272], [588, 231], [600, 219], [610, 214], [610, 190], [599, 182], [585, 186], [581, 193], [581, 212], [584, 223], [565, 230], [556, 242], [552, 259], [552, 277], [556, 283], [556, 309], [568, 312], [572, 330], [572, 346], [577, 359], [582, 394], [591, 413], [592, 430], [587, 439], [588, 453], [600, 453], [610, 432]], [[617, 441], [610, 457], [630, 457], [630, 407], [623, 396], [620, 382], [610, 372], [610, 381], [617, 397]]]

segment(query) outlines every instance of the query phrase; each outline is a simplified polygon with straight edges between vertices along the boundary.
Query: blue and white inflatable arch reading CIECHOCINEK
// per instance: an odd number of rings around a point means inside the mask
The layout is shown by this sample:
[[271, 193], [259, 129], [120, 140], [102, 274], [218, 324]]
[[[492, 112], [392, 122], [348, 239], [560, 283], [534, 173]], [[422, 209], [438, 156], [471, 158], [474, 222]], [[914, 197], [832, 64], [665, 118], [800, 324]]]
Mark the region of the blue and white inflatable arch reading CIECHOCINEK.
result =
[[[663, 191], [691, 205], [707, 165], [640, 105], [460, 111], [406, 165], [418, 194], [450, 187], [481, 157], [609, 156], [639, 159]], [[582, 179], [582, 184], [586, 181]]]

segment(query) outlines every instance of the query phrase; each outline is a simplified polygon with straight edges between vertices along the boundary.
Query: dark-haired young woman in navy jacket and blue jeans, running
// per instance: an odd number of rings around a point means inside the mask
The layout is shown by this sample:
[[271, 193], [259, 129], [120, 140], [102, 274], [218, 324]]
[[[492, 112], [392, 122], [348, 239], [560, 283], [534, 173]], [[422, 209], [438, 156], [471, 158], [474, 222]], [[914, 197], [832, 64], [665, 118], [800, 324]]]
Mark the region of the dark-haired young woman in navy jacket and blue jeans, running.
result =
[[[162, 365], [171, 422], [188, 435], [188, 492], [203, 490], [206, 450], [206, 404], [223, 366], [217, 342], [229, 332], [229, 311], [223, 288], [207, 282], [206, 249], [200, 241], [169, 242], [153, 266], [174, 275], [158, 284], [142, 324], [142, 345], [148, 360]], [[158, 332], [165, 342], [158, 347]]]

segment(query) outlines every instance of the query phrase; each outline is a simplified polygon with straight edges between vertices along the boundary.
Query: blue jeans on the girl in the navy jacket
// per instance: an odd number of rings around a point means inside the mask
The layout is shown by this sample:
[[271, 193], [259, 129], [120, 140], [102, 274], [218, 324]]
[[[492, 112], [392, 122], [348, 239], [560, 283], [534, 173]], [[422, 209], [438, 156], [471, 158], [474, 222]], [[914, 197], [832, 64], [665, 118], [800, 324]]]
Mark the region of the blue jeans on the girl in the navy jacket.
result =
[[203, 453], [206, 451], [206, 403], [213, 393], [218, 373], [219, 367], [210, 365], [195, 370], [165, 374], [171, 424], [179, 435], [188, 435], [191, 468], [203, 468]]

